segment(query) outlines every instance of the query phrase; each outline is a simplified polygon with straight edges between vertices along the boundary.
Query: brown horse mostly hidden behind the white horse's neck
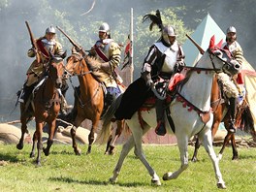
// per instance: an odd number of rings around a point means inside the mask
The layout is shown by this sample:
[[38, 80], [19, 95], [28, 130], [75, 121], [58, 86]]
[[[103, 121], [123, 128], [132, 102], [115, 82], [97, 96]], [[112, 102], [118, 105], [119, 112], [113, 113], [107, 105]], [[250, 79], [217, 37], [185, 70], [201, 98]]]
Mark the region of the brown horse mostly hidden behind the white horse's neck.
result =
[[[224, 139], [223, 145], [219, 151], [218, 157], [221, 158], [223, 151], [226, 145], [231, 141], [232, 149], [233, 149], [233, 157], [232, 160], [236, 160], [239, 158], [238, 149], [236, 146], [235, 134], [229, 132], [229, 121], [230, 121], [230, 113], [228, 110], [228, 104], [225, 102], [225, 99], [222, 97], [222, 93], [220, 91], [219, 84], [217, 82], [217, 78], [212, 80], [212, 89], [211, 89], [211, 96], [210, 96], [211, 108], [213, 110], [213, 123], [211, 126], [211, 135], [212, 138], [215, 136], [219, 124], [224, 122], [225, 128], [227, 130], [227, 135]], [[236, 126], [239, 127], [241, 130], [250, 133], [252, 136], [256, 136], [254, 131], [254, 123], [251, 112], [249, 110], [248, 104], [244, 99], [242, 104], [239, 106], [236, 115]], [[195, 150], [192, 157], [192, 161], [197, 161], [197, 153], [200, 147], [199, 139], [196, 138], [195, 143]]]

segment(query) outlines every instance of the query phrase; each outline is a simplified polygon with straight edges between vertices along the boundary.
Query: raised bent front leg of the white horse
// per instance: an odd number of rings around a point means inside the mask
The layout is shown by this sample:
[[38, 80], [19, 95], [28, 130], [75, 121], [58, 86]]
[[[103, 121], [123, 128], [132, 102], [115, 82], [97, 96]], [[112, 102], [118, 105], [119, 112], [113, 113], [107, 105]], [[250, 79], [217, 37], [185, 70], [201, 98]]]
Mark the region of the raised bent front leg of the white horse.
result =
[[[183, 133], [184, 134], [184, 133]], [[168, 172], [163, 176], [163, 180], [170, 180], [170, 179], [174, 179], [177, 176], [179, 176], [184, 170], [186, 170], [188, 168], [188, 152], [187, 152], [187, 145], [188, 145], [188, 138], [187, 137], [176, 137], [177, 140], [177, 146], [179, 149], [179, 156], [180, 156], [180, 161], [181, 161], [181, 165], [179, 167], [179, 169], [172, 173], [172, 172]]]

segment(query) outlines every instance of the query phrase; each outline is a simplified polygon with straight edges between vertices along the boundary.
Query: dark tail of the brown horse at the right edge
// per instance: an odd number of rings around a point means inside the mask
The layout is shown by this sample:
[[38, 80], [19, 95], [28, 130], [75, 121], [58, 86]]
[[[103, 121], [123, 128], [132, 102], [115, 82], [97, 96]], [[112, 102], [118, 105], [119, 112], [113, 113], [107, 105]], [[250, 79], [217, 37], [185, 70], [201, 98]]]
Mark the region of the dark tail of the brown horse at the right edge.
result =
[[240, 130], [249, 133], [256, 138], [256, 131], [254, 128], [254, 120], [252, 117], [252, 112], [250, 111], [250, 107], [245, 105], [243, 109], [241, 109], [240, 114]]

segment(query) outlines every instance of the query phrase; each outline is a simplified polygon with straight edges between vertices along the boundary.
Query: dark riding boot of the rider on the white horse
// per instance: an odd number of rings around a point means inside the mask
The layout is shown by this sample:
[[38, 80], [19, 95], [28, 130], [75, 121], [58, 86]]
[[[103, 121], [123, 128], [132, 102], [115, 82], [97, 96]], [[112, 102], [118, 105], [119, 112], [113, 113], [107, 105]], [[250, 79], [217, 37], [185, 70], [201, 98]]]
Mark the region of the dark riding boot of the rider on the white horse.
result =
[[155, 133], [159, 136], [164, 136], [166, 134], [164, 103], [165, 103], [164, 100], [156, 99], [155, 111], [156, 111], [157, 126], [155, 128]]

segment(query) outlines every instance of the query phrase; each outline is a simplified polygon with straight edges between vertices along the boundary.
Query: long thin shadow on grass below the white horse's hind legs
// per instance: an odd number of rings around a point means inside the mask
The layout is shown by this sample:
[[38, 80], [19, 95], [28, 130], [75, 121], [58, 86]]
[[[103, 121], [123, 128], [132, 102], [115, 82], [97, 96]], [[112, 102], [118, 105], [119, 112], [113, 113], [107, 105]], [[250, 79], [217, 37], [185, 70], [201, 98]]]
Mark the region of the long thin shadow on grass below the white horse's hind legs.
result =
[[100, 180], [79, 180], [74, 179], [71, 177], [49, 177], [48, 180], [51, 181], [61, 181], [61, 182], [67, 182], [67, 183], [79, 183], [79, 184], [89, 184], [89, 185], [118, 185], [118, 186], [125, 186], [125, 187], [136, 187], [136, 186], [148, 186], [148, 184], [145, 184], [144, 182], [125, 182], [125, 183], [112, 183], [110, 181], [100, 181]]

